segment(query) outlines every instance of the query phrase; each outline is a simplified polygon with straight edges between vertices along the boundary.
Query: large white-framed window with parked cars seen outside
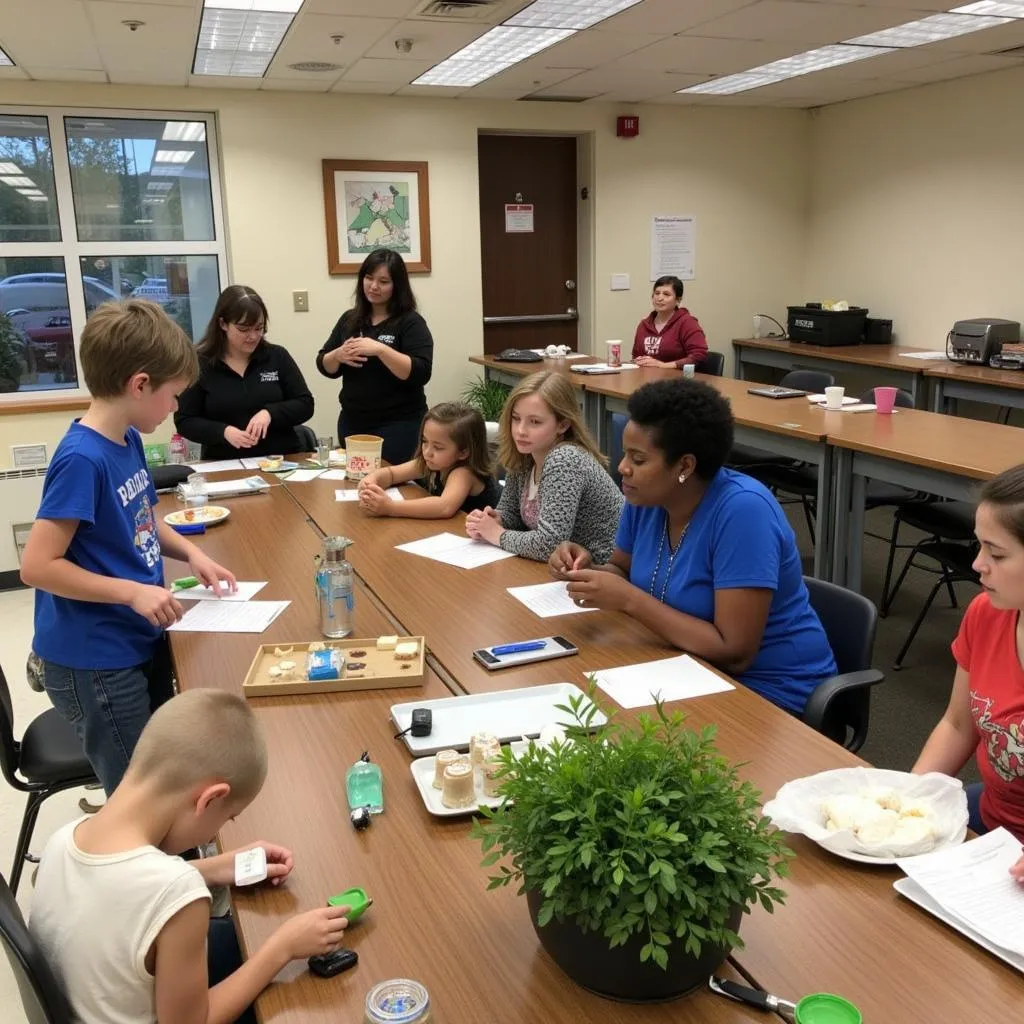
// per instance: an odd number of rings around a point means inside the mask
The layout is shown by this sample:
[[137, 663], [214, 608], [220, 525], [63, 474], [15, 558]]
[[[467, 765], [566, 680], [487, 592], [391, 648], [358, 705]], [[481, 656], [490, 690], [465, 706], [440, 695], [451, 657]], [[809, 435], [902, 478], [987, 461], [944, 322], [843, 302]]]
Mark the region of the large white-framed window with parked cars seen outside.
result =
[[104, 302], [148, 299], [198, 341], [223, 239], [211, 118], [0, 109], [0, 403], [84, 397], [78, 346]]

